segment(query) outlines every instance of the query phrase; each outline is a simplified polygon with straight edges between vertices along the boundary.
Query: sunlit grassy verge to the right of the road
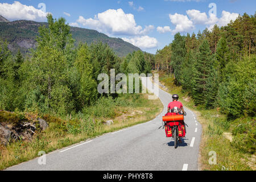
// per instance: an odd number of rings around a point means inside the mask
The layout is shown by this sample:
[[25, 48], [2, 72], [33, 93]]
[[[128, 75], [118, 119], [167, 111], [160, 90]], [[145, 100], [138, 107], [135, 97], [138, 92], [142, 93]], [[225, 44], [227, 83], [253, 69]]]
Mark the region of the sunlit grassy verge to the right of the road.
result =
[[[180, 101], [197, 115], [203, 127], [200, 144], [199, 166], [201, 170], [255, 170], [255, 117], [242, 117], [230, 120], [218, 109], [207, 110], [197, 107], [188, 93], [182, 92], [180, 86], [174, 84], [174, 77], [159, 73], [159, 81], [169, 92], [179, 94]], [[232, 133], [233, 140], [224, 137], [224, 133]], [[209, 164], [209, 152], [217, 154], [217, 164]], [[253, 159], [254, 158], [254, 159]]]

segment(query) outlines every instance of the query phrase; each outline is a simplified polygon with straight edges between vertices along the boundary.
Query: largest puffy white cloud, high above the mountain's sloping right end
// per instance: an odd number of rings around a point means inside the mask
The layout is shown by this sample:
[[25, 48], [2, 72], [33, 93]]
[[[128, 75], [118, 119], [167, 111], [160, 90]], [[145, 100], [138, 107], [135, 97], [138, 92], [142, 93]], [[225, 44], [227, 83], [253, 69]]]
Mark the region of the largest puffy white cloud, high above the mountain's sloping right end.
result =
[[134, 15], [125, 14], [122, 9], [106, 10], [95, 15], [93, 19], [85, 19], [83, 16], [79, 16], [76, 22], [109, 35], [145, 35], [154, 29], [154, 26], [151, 25], [144, 29], [137, 26]]

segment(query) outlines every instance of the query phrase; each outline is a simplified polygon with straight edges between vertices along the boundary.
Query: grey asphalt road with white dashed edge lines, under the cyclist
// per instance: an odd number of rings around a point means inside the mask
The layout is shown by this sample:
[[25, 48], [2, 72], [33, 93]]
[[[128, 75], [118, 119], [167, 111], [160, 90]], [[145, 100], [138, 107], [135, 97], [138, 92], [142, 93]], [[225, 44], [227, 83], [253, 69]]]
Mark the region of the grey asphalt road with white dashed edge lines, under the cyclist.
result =
[[[146, 79], [142, 78], [143, 85]], [[47, 154], [46, 164], [36, 158], [7, 170], [72, 170], [72, 171], [196, 171], [201, 137], [201, 125], [192, 111], [185, 108], [187, 135], [174, 148], [174, 139], [166, 138], [162, 116], [167, 112], [171, 95], [159, 89], [164, 110], [152, 121], [124, 130], [108, 133], [92, 140]]]

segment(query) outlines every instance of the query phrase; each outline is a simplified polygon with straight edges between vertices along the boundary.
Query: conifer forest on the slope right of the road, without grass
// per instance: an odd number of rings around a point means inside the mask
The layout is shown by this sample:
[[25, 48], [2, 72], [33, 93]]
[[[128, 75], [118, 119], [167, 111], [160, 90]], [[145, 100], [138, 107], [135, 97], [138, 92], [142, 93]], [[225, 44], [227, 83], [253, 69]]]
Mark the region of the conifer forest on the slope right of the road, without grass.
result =
[[231, 118], [255, 115], [255, 15], [198, 34], [175, 35], [156, 53], [156, 69], [174, 73], [175, 82], [196, 105], [220, 107]]

